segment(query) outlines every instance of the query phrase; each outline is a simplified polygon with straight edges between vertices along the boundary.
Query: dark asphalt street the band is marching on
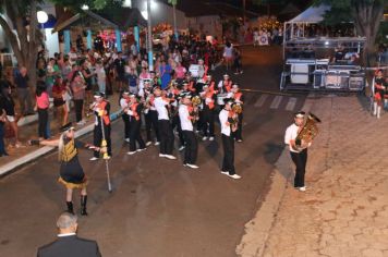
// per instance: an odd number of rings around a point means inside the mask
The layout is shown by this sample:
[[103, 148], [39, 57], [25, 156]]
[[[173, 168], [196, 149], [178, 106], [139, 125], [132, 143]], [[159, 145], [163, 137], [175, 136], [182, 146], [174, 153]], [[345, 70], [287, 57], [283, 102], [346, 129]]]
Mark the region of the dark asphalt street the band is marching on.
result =
[[[106, 188], [104, 162], [89, 162], [92, 152], [81, 151], [89, 178], [89, 217], [81, 218], [80, 236], [97, 240], [104, 256], [235, 256], [244, 224], [270, 185], [283, 130], [304, 105], [304, 95], [270, 93], [278, 90], [280, 53], [280, 48], [243, 49], [244, 74], [237, 81], [243, 88], [269, 93], [245, 93], [244, 143], [235, 148], [240, 181], [219, 173], [218, 126], [215, 142], [199, 143], [201, 169], [194, 171], [181, 158], [160, 159], [155, 146], [125, 155], [120, 119], [112, 133], [112, 194]], [[33, 256], [54, 238], [56, 219], [65, 208], [58, 169], [53, 154], [0, 181], [0, 220], [7, 224], [0, 231], [1, 255]]]

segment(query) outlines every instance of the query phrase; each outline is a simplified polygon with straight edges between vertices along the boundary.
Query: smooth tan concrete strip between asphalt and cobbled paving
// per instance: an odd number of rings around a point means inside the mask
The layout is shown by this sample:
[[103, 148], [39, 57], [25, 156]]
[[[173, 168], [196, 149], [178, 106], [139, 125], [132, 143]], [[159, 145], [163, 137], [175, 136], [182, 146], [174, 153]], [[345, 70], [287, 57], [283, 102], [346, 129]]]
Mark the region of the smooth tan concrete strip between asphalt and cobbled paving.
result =
[[[310, 94], [303, 105], [302, 110], [305, 112], [308, 112], [312, 109], [314, 101], [312, 96], [313, 95]], [[286, 146], [275, 163], [275, 169], [271, 173], [272, 182], [267, 195], [265, 195], [264, 200], [262, 201], [262, 206], [256, 211], [254, 218], [244, 225], [245, 233], [235, 248], [235, 254], [238, 256], [263, 256], [266, 242], [289, 185], [289, 180], [293, 174], [292, 169], [289, 150]]]

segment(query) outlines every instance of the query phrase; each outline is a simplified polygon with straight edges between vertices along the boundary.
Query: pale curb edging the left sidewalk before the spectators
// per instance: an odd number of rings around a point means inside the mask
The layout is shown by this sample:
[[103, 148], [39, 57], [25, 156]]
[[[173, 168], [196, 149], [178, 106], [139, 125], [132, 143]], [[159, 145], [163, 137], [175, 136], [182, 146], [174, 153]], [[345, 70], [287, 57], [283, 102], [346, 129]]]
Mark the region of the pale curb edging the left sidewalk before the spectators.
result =
[[[113, 112], [112, 114], [110, 114], [110, 120], [114, 121], [120, 115], [121, 115], [121, 110]], [[94, 130], [94, 124], [84, 126], [75, 132], [75, 138], [86, 135], [86, 134], [90, 133], [93, 130]], [[0, 178], [3, 178], [5, 175], [16, 171], [17, 169], [20, 169], [20, 168], [26, 166], [27, 163], [31, 163], [34, 160], [53, 151], [54, 149], [56, 149], [56, 147], [44, 146], [37, 150], [34, 150], [34, 151], [16, 159], [16, 160], [13, 160], [13, 161], [0, 167]]]

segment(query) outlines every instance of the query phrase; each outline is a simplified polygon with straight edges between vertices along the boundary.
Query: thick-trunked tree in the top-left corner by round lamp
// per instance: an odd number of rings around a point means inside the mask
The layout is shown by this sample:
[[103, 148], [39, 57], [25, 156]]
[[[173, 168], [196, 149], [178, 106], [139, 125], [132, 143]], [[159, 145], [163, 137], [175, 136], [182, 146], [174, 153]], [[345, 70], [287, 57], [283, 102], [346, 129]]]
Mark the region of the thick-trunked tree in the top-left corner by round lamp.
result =
[[[120, 2], [120, 0], [111, 0]], [[27, 68], [29, 86], [34, 88], [36, 84], [36, 60], [38, 47], [43, 44], [43, 35], [36, 13], [39, 4], [44, 0], [0, 0], [1, 13], [7, 13], [9, 19], [0, 15], [0, 26], [3, 28], [8, 40], [11, 44], [13, 53], [20, 66]], [[108, 0], [51, 0], [51, 2], [80, 9], [83, 4], [88, 4], [90, 9], [101, 9], [109, 2]], [[15, 29], [15, 33], [13, 32]]]

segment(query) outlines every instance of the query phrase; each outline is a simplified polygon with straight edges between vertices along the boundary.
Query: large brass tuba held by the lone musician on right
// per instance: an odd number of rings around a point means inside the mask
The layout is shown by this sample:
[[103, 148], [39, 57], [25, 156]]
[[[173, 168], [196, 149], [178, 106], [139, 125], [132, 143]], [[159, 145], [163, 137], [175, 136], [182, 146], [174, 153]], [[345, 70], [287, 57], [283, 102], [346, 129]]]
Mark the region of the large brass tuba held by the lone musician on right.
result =
[[296, 150], [301, 151], [307, 148], [310, 143], [313, 142], [319, 132], [317, 123], [320, 123], [320, 120], [313, 113], [308, 112], [308, 115], [306, 115], [304, 124], [295, 138]]

